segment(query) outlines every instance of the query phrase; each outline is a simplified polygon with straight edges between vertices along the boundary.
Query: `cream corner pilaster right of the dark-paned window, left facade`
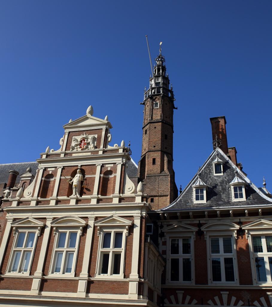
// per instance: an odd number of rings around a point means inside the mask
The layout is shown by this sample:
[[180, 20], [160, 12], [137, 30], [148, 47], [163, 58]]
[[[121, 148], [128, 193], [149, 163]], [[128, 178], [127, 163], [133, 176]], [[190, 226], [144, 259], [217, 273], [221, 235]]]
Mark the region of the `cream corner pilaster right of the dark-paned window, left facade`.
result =
[[[132, 246], [132, 261], [131, 273], [129, 278], [134, 279], [129, 282], [129, 295], [138, 294], [138, 261], [139, 261], [139, 244], [140, 244], [140, 226], [141, 226], [141, 215], [134, 216], [134, 230], [133, 230], [133, 246]], [[135, 280], [136, 279], [136, 280]]]

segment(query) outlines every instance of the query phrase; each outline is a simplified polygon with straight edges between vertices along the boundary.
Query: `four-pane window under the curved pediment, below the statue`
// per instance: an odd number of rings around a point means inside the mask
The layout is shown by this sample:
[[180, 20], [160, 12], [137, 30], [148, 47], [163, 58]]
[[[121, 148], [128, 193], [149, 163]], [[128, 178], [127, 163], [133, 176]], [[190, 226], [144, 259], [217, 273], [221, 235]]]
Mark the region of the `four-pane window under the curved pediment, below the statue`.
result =
[[73, 274], [75, 270], [75, 255], [78, 246], [78, 231], [59, 231], [56, 246], [53, 251], [53, 274]]

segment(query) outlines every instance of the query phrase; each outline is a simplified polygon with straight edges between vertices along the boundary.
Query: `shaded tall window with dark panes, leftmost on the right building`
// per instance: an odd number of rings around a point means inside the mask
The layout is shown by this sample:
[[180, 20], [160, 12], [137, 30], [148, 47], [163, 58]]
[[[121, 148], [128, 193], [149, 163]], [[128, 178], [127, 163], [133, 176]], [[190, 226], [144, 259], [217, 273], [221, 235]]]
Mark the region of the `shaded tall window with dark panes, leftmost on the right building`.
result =
[[170, 239], [170, 281], [192, 282], [191, 238]]

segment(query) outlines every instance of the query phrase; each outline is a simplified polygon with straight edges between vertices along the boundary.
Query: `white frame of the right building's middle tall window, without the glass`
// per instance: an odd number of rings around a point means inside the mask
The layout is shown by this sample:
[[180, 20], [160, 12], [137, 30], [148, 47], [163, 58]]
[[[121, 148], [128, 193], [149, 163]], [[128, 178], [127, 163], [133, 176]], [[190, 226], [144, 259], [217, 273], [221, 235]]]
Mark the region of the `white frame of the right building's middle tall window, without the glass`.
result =
[[[205, 225], [206, 226], [206, 225]], [[232, 238], [232, 254], [224, 254], [223, 249], [222, 253], [220, 254], [212, 254], [211, 253], [211, 244], [210, 244], [210, 238], [223, 238], [223, 237], [231, 237]], [[223, 240], [223, 239], [222, 239]], [[221, 242], [220, 240], [219, 242]], [[238, 267], [237, 267], [237, 253], [236, 253], [236, 238], [235, 238], [235, 232], [229, 232], [229, 231], [222, 231], [220, 232], [220, 235], [217, 233], [210, 233], [206, 236], [206, 243], [207, 243], [207, 259], [208, 259], [208, 283], [209, 285], [222, 285], [222, 284], [228, 284], [228, 285], [239, 285], [239, 275], [238, 275]], [[223, 244], [220, 243], [220, 247]], [[234, 271], [234, 282], [226, 282], [225, 281], [225, 272], [223, 269], [224, 262], [221, 261], [221, 282], [212, 281], [212, 257], [213, 258], [231, 258], [233, 257], [233, 271]]]

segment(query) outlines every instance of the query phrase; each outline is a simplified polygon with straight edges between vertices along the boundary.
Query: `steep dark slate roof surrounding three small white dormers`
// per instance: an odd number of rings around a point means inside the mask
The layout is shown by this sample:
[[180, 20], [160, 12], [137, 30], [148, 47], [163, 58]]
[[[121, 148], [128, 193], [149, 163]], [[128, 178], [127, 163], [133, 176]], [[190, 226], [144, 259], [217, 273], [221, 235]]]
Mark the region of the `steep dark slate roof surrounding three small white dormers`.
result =
[[224, 207], [240, 207], [240, 206], [252, 206], [252, 205], [265, 205], [272, 206], [272, 199], [268, 198], [262, 190], [257, 188], [247, 176], [237, 169], [237, 176], [245, 183], [246, 200], [244, 201], [232, 201], [232, 193], [230, 183], [235, 178], [236, 166], [232, 161], [223, 153], [221, 149], [218, 149], [218, 157], [223, 161], [223, 175], [213, 175], [212, 162], [216, 158], [216, 150], [214, 150], [206, 162], [202, 165], [200, 172], [200, 178], [208, 186], [206, 188], [206, 203], [196, 203], [193, 201], [193, 189], [197, 180], [197, 174], [190, 181], [184, 191], [179, 197], [173, 201], [169, 206], [161, 209], [163, 211], [177, 211], [177, 210], [197, 210], [198, 208], [224, 208]]

